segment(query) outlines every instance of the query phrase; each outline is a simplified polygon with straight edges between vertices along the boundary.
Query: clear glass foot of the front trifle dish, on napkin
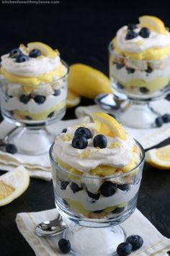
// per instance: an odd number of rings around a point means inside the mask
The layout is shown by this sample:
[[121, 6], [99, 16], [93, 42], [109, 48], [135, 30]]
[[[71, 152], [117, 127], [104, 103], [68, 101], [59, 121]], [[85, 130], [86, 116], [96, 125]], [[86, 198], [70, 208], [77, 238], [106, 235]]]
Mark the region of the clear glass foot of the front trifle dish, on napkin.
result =
[[125, 242], [126, 234], [120, 226], [107, 228], [86, 228], [71, 225], [63, 238], [71, 242], [71, 253], [76, 256], [113, 256], [117, 246]]

